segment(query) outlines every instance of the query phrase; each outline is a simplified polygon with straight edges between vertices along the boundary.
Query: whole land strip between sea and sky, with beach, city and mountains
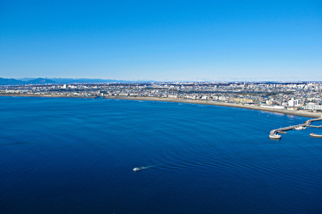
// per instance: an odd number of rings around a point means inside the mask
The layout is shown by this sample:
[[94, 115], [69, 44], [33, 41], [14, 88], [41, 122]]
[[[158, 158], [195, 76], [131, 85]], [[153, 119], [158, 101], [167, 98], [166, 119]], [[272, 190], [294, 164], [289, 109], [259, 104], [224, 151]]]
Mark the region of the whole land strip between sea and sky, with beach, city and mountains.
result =
[[[0, 78], [0, 96], [82, 97], [174, 102], [266, 110], [312, 117], [322, 110], [322, 82], [117, 82]], [[7, 82], [6, 82], [7, 81]], [[55, 82], [56, 81], [56, 82]], [[289, 111], [290, 110], [290, 111]], [[315, 115], [320, 117], [320, 113]]]

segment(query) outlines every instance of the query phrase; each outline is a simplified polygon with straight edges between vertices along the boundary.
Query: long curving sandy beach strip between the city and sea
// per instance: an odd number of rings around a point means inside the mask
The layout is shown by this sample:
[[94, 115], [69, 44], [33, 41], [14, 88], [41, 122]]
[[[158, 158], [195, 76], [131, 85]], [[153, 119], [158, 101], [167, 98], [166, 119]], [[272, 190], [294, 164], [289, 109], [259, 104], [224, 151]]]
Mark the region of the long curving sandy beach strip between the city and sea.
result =
[[[95, 98], [95, 96], [62, 96], [62, 95], [35, 95], [35, 94], [0, 94], [0, 96], [8, 97], [57, 97], [57, 98]], [[176, 103], [192, 103], [192, 104], [201, 104], [201, 105], [214, 105], [214, 106], [225, 106], [232, 108], [245, 108], [251, 110], [260, 110], [267, 111], [279, 114], [294, 115], [307, 118], [319, 118], [322, 116], [322, 113], [306, 112], [301, 110], [281, 110], [281, 109], [272, 109], [265, 108], [255, 105], [246, 105], [246, 104], [236, 104], [236, 103], [224, 103], [216, 101], [206, 101], [206, 100], [189, 100], [189, 99], [169, 99], [169, 98], [154, 98], [154, 97], [120, 97], [120, 96], [110, 96], [104, 97], [104, 99], [116, 99], [116, 100], [145, 100], [145, 101], [159, 101], [159, 102], [176, 102]]]

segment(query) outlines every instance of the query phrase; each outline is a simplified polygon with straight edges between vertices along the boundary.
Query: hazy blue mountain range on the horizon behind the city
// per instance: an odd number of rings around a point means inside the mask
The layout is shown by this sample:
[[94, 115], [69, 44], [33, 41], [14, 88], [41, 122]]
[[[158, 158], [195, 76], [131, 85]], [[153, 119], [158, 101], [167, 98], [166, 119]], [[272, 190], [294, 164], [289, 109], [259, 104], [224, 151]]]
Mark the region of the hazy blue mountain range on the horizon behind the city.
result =
[[41, 85], [41, 84], [95, 84], [95, 83], [129, 83], [129, 82], [151, 82], [151, 81], [125, 81], [104, 79], [71, 79], [71, 78], [0, 78], [0, 85]]

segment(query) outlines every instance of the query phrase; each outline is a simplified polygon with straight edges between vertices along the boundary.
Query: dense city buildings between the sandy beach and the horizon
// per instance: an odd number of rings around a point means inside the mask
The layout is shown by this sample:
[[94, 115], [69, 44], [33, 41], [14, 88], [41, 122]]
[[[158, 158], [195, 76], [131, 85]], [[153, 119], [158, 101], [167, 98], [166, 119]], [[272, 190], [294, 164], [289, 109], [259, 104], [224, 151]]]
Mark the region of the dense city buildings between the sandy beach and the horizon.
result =
[[154, 97], [322, 110], [321, 82], [146, 82], [0, 86], [2, 95]]

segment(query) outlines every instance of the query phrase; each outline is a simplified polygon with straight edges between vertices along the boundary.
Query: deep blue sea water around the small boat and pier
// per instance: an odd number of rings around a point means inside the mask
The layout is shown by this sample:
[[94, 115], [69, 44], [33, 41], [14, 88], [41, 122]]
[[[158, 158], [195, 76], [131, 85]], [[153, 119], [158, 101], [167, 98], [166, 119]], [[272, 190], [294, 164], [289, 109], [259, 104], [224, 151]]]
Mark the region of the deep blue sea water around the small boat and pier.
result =
[[306, 119], [198, 104], [0, 97], [0, 212], [321, 213], [322, 139], [309, 133], [322, 129], [268, 137]]

